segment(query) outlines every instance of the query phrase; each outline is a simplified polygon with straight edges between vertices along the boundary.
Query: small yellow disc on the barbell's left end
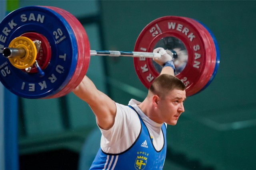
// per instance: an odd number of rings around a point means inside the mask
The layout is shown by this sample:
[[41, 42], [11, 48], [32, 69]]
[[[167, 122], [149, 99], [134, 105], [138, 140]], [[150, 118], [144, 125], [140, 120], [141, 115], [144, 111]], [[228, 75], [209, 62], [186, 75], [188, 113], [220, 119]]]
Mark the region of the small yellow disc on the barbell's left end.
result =
[[33, 41], [27, 37], [16, 37], [14, 38], [9, 46], [9, 48], [23, 48], [26, 51], [24, 57], [14, 57], [9, 58], [10, 63], [19, 69], [25, 69], [32, 66], [36, 61], [36, 45]]

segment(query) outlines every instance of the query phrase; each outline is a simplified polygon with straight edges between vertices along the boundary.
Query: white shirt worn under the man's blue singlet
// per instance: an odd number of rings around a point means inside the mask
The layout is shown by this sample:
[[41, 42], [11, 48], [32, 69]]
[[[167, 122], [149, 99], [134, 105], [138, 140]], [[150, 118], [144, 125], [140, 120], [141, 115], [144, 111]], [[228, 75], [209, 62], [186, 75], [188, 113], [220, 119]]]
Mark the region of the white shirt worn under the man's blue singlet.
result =
[[[134, 107], [144, 123], [156, 150], [161, 150], [164, 145], [164, 137], [161, 131], [162, 124], [156, 123], [148, 118], [138, 107], [140, 102], [132, 99], [129, 105]], [[137, 113], [128, 106], [116, 103], [116, 117], [113, 127], [108, 130], [100, 128], [102, 133], [100, 147], [103, 152], [118, 154], [127, 150], [137, 139], [140, 133], [140, 119]]]

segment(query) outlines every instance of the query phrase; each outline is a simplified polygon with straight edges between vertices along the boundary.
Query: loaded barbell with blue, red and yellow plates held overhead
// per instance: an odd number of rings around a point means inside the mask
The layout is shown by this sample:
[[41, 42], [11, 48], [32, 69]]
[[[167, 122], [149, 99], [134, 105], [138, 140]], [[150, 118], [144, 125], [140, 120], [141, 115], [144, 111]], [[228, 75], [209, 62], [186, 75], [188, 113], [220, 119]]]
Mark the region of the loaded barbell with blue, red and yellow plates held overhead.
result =
[[164, 16], [141, 31], [134, 51], [90, 50], [86, 31], [69, 12], [50, 6], [19, 8], [0, 23], [0, 81], [23, 98], [58, 98], [84, 78], [90, 56], [133, 57], [142, 84], [149, 88], [161, 71], [152, 53], [163, 47], [174, 57], [175, 76], [186, 96], [204, 90], [219, 66], [217, 41], [208, 27], [191, 18]]

